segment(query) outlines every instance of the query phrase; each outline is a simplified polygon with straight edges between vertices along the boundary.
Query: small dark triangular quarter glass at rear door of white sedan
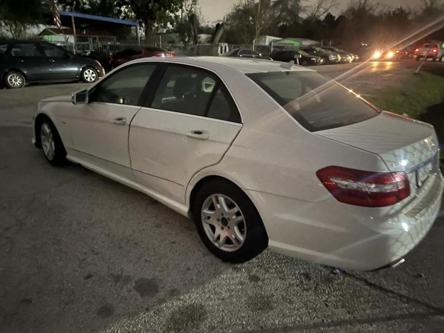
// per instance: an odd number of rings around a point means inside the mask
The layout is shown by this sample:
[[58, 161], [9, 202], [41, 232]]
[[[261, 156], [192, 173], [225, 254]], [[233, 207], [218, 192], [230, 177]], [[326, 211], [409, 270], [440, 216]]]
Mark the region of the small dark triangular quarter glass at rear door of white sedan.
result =
[[214, 94], [214, 98], [208, 109], [207, 117], [232, 121], [234, 123], [241, 122], [238, 108], [223, 84], [219, 84], [219, 87]]

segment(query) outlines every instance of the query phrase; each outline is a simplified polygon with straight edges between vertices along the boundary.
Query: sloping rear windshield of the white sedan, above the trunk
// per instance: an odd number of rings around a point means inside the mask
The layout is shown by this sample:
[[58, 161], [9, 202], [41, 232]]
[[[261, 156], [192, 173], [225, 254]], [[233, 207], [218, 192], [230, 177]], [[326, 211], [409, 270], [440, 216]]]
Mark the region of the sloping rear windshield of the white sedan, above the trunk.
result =
[[346, 126], [378, 115], [359, 95], [317, 72], [246, 74], [307, 130]]

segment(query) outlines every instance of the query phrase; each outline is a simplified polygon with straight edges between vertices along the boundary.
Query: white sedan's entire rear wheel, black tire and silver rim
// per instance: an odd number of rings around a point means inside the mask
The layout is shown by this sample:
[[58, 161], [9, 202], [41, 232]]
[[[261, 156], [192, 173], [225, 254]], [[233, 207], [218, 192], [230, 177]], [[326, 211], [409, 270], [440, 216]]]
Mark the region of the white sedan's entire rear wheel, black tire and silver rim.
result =
[[246, 262], [266, 249], [268, 237], [250, 198], [233, 183], [214, 180], [196, 195], [194, 220], [202, 242], [226, 262]]

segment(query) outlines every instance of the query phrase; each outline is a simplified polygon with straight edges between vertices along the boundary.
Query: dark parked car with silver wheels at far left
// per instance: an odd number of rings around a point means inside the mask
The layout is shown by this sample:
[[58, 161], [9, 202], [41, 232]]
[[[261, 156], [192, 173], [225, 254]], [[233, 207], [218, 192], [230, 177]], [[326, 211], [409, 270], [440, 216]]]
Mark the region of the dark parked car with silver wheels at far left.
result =
[[47, 42], [0, 42], [0, 79], [9, 88], [30, 82], [94, 82], [105, 75], [102, 65]]

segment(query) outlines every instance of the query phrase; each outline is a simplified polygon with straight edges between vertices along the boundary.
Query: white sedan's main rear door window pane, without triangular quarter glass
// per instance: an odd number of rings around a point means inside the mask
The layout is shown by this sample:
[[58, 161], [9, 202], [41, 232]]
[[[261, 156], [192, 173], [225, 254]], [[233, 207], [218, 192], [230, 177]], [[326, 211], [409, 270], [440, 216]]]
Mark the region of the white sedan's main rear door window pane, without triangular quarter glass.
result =
[[151, 107], [205, 116], [216, 75], [195, 67], [170, 65], [154, 95]]

